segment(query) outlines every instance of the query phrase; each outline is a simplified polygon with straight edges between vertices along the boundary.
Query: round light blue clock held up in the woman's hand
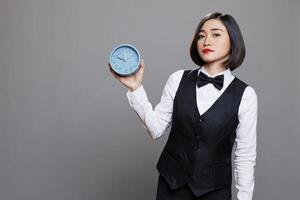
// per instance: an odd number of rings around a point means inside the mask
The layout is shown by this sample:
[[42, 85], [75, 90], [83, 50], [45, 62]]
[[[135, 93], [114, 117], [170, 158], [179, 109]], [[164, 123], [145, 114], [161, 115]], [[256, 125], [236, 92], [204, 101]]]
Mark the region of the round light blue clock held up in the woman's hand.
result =
[[119, 76], [131, 76], [140, 67], [140, 53], [130, 44], [116, 46], [110, 54], [109, 63]]

